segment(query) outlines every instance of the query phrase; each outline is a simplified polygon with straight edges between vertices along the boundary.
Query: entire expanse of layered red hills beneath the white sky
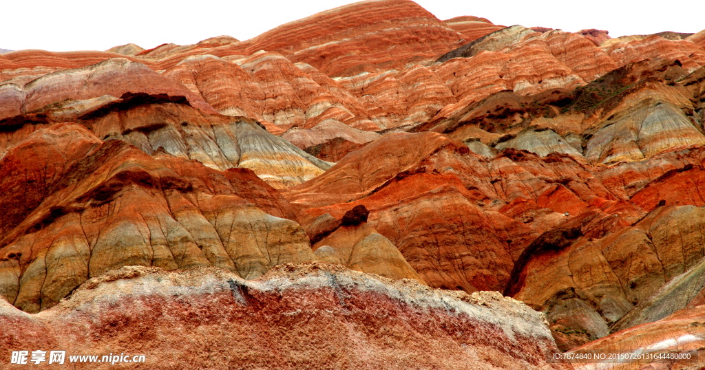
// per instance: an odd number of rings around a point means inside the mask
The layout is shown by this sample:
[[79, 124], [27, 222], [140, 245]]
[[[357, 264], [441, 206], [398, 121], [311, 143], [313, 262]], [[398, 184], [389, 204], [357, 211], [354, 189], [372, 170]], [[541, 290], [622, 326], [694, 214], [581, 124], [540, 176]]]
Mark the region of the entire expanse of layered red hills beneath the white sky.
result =
[[700, 348], [703, 32], [479, 16], [1, 54], [2, 355], [157, 357], [175, 327], [223, 369]]

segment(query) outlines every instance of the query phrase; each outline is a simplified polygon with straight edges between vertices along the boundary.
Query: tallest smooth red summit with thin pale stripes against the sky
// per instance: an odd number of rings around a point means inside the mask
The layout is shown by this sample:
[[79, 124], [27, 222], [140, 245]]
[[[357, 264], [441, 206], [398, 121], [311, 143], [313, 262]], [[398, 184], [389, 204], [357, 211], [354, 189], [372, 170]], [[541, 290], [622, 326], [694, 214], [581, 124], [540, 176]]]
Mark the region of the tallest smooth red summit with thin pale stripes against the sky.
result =
[[460, 46], [455, 32], [412, 1], [360, 2], [281, 25], [243, 44], [277, 51], [330, 76], [401, 68]]

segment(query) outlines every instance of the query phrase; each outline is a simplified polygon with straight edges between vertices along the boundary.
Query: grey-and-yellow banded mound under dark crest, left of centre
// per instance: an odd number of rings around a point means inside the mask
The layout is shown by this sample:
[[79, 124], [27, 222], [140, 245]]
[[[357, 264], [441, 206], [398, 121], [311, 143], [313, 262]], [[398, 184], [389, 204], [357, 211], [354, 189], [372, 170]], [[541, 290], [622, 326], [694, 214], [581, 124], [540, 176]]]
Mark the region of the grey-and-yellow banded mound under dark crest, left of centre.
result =
[[80, 118], [102, 140], [130, 142], [148, 154], [159, 148], [211, 168], [250, 168], [274, 187], [290, 187], [330, 167], [243, 117], [204, 115], [184, 104], [115, 103]]

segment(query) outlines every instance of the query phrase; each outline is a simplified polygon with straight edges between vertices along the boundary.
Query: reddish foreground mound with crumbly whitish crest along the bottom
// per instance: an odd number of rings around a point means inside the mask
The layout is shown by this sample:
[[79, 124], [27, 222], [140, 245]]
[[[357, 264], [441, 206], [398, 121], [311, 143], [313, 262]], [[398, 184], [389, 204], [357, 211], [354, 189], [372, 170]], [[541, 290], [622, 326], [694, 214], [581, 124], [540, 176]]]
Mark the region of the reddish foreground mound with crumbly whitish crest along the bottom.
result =
[[67, 362], [144, 354], [149, 369], [570, 369], [546, 362], [556, 347], [544, 316], [520, 302], [329, 264], [287, 264], [250, 281], [213, 268], [125, 267], [40, 315], [0, 300], [0, 327], [2, 358], [60, 344]]

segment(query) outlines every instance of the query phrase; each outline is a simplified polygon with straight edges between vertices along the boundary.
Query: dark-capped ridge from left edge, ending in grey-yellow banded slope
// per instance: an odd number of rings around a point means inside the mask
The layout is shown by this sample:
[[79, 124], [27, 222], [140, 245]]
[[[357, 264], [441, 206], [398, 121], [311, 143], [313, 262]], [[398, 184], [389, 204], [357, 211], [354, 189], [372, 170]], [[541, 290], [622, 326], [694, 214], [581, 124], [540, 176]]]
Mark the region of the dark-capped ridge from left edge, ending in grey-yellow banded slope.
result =
[[275, 187], [297, 185], [330, 167], [271, 135], [257, 121], [198, 111], [183, 96], [145, 93], [63, 101], [39, 113], [0, 121], [8, 131], [0, 134], [4, 136], [0, 153], [23, 140], [27, 132], [66, 121], [78, 121], [100, 140], [123, 140], [147, 154], [161, 149], [222, 171], [250, 168]]

